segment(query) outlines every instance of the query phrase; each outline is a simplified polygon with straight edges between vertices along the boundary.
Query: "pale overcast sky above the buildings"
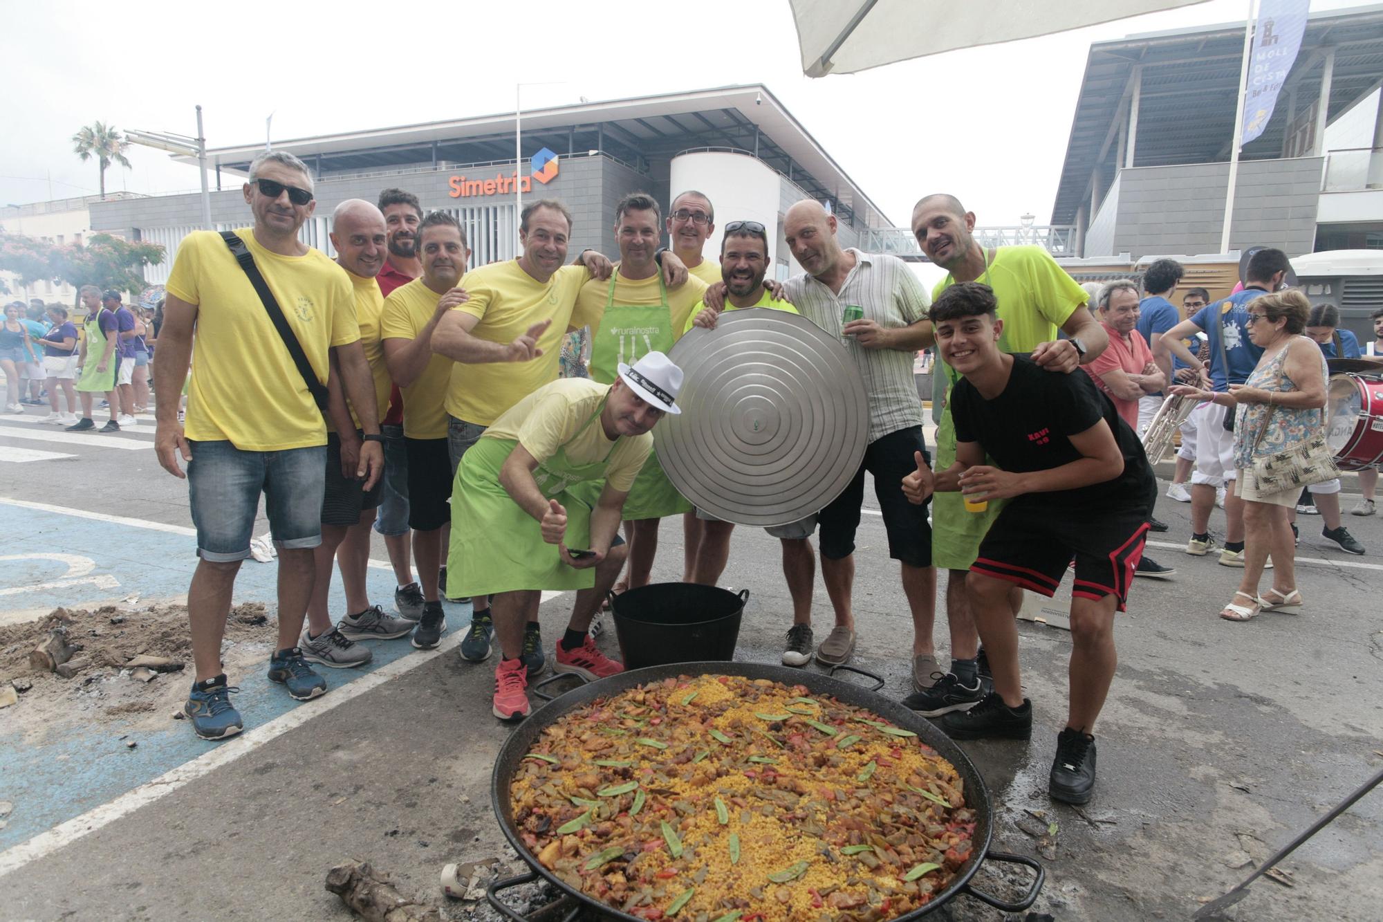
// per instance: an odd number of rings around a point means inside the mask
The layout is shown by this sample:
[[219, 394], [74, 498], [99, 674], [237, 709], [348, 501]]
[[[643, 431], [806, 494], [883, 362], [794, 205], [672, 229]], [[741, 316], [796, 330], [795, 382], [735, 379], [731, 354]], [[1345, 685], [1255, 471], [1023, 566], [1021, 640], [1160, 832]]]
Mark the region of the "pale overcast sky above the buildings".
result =
[[[513, 111], [520, 80], [561, 82], [526, 87], [524, 108], [765, 83], [893, 222], [921, 194], [949, 191], [982, 224], [1050, 219], [1091, 42], [1247, 12], [1246, 0], [1212, 0], [813, 80], [787, 0], [0, 6], [0, 204], [95, 192], [95, 165], [72, 152], [79, 127], [195, 134], [198, 102], [209, 147], [225, 147], [261, 141], [270, 112], [286, 140]], [[1311, 3], [1348, 6], [1359, 4]], [[108, 190], [198, 186], [167, 154], [131, 147], [129, 158]]]

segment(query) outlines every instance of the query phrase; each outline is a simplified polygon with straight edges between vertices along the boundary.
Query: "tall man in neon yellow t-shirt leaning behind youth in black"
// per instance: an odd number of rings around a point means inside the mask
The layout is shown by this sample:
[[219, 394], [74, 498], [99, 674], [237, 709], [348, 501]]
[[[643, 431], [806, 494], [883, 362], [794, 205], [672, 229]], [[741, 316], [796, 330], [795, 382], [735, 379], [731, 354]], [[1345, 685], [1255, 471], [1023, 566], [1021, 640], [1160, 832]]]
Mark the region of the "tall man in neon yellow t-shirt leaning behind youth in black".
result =
[[[927, 256], [947, 270], [932, 291], [936, 299], [953, 282], [978, 281], [989, 285], [999, 299], [1004, 329], [1003, 352], [1032, 353], [1033, 360], [1054, 374], [1070, 374], [1105, 350], [1109, 338], [1086, 307], [1086, 292], [1040, 246], [986, 249], [972, 235], [975, 215], [954, 195], [928, 195], [913, 208], [913, 234]], [[1057, 329], [1069, 339], [1057, 339]], [[945, 471], [956, 461], [956, 429], [950, 407], [943, 406], [960, 375], [938, 357], [934, 379], [932, 418], [936, 421], [934, 468]], [[917, 624], [913, 638], [913, 687], [917, 694], [904, 703], [928, 717], [974, 706], [987, 688], [979, 662], [979, 634], [971, 613], [965, 576], [979, 554], [989, 525], [1003, 501], [992, 501], [983, 512], [967, 512], [960, 493], [932, 497], [932, 562], [950, 570], [946, 583], [946, 619], [950, 622], [952, 667], [936, 669], [932, 626]], [[1022, 604], [1015, 587], [1012, 604]], [[935, 670], [935, 671], [934, 671]]]

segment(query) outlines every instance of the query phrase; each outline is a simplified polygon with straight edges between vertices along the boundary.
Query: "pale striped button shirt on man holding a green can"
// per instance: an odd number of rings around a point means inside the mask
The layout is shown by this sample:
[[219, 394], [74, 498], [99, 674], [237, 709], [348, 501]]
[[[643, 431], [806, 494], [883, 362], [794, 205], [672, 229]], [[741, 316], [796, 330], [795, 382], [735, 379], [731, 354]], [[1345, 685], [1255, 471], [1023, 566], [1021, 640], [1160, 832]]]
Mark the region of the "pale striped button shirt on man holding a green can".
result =
[[855, 365], [869, 393], [869, 440], [889, 432], [922, 425], [922, 401], [913, 379], [913, 352], [864, 349], [853, 336], [841, 334], [846, 305], [864, 309], [864, 320], [885, 329], [907, 327], [927, 317], [931, 296], [907, 263], [896, 256], [855, 255], [855, 269], [845, 277], [841, 293], [812, 275], [794, 275], [784, 282], [786, 298], [798, 311], [828, 334], [841, 336], [855, 357]]

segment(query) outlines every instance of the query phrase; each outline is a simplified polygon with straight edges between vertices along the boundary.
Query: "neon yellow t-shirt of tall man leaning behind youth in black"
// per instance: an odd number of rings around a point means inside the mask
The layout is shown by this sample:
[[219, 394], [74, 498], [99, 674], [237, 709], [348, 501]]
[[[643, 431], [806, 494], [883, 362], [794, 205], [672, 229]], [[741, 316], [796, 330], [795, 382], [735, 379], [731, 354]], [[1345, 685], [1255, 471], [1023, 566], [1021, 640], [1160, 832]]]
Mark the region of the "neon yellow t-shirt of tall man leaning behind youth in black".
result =
[[[1004, 321], [999, 347], [1004, 352], [1032, 352], [1039, 343], [1051, 342], [1087, 298], [1086, 289], [1041, 246], [999, 248], [989, 263], [989, 271], [975, 281], [994, 289], [999, 318]], [[936, 282], [932, 303], [952, 284], [950, 275]], [[943, 360], [940, 365], [946, 368]], [[954, 371], [946, 371], [947, 379], [957, 377]]]

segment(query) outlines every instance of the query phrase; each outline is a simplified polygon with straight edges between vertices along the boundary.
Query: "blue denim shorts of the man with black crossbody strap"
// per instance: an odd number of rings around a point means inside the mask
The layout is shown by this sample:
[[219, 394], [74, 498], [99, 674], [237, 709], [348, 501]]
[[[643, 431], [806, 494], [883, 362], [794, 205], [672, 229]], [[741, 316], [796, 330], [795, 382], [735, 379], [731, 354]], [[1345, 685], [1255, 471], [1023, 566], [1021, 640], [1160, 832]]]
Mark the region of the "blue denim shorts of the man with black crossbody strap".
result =
[[188, 440], [188, 500], [203, 561], [228, 563], [250, 555], [260, 493], [274, 544], [297, 550], [322, 543], [326, 446], [241, 451], [225, 440]]

